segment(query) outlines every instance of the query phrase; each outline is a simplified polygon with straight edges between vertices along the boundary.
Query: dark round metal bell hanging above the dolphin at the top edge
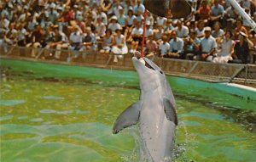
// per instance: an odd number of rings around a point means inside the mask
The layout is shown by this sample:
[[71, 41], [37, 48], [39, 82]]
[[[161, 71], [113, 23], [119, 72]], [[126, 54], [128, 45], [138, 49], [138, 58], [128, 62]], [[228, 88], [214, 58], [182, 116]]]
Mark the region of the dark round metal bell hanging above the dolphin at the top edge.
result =
[[191, 13], [186, 0], [144, 0], [144, 6], [152, 14], [172, 19], [186, 18]]

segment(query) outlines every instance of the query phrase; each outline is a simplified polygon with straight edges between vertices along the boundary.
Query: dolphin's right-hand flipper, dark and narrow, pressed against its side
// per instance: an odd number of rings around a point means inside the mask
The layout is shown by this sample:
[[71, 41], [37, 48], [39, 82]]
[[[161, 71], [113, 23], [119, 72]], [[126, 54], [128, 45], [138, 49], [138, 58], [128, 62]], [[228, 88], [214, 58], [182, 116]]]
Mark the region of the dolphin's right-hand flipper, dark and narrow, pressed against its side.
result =
[[170, 100], [167, 99], [167, 98], [164, 98], [164, 109], [165, 109], [167, 120], [172, 121], [177, 126], [177, 113], [176, 113], [176, 109], [174, 108], [174, 106], [170, 102]]

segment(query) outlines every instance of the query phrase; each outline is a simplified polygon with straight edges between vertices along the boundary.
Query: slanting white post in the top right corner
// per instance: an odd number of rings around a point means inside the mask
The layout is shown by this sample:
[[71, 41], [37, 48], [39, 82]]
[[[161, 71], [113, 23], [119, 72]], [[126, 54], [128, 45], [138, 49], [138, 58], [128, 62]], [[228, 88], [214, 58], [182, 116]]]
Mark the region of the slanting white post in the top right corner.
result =
[[241, 15], [242, 19], [247, 20], [248, 24], [251, 26], [253, 31], [256, 31], [256, 23], [252, 20], [252, 18], [244, 11], [243, 8], [236, 2], [236, 0], [227, 0], [233, 8], [236, 9], [238, 14]]

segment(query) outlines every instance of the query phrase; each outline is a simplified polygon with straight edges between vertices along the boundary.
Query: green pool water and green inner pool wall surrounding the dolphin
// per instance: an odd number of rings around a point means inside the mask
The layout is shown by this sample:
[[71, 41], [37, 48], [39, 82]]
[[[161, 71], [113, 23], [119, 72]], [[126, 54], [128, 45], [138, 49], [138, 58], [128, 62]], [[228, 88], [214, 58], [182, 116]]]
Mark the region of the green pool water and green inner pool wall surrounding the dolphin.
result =
[[[137, 126], [112, 135], [139, 98], [135, 72], [1, 60], [1, 73], [1, 161], [140, 161]], [[252, 92], [168, 79], [179, 120], [175, 161], [255, 161], [255, 103], [244, 99]]]

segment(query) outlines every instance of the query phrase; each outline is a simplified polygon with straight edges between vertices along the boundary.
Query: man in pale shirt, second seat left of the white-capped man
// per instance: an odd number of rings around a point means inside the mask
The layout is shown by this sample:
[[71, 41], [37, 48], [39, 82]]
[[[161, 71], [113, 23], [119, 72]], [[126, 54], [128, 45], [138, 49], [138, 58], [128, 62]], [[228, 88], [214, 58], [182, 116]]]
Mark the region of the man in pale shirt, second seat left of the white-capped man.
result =
[[169, 52], [166, 54], [166, 58], [182, 58], [183, 56], [183, 46], [184, 42], [183, 39], [177, 37], [177, 31], [171, 32], [171, 41], [169, 42], [170, 49]]

